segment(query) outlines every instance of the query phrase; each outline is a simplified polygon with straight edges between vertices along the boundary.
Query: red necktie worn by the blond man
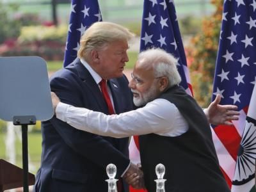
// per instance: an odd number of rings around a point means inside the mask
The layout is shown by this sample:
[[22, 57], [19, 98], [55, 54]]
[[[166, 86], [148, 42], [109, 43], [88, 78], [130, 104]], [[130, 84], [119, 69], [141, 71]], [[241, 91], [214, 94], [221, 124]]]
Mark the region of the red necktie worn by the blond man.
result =
[[[100, 90], [102, 92], [104, 100], [106, 101], [106, 103], [108, 105], [108, 113], [109, 113], [109, 115], [115, 114], [114, 108], [113, 108], [112, 103], [111, 103], [111, 99], [110, 99], [109, 94], [108, 94], [106, 80], [102, 79], [99, 84], [100, 84]], [[116, 186], [117, 186], [117, 191], [118, 192], [122, 192], [123, 191], [122, 178], [118, 179]]]

